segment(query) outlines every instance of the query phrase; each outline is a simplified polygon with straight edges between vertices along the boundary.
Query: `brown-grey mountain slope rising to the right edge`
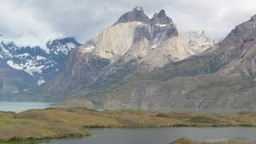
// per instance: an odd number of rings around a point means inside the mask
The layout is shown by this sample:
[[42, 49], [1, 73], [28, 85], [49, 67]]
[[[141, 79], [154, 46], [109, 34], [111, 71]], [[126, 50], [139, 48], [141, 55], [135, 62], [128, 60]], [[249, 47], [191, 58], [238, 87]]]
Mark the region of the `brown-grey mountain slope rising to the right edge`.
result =
[[81, 98], [105, 109], [255, 109], [255, 27], [253, 16], [202, 54]]

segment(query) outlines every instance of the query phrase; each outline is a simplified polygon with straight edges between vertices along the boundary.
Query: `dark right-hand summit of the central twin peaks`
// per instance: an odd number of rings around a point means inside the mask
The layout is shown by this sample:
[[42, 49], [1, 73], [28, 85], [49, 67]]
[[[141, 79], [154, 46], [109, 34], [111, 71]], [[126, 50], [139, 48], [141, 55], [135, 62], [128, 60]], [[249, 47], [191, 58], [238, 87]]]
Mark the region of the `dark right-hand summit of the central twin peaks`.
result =
[[152, 25], [161, 25], [161, 26], [165, 26], [166, 24], [174, 24], [174, 22], [172, 21], [171, 18], [169, 18], [166, 15], [166, 11], [165, 10], [160, 10], [160, 12], [157, 14], [155, 13], [153, 18], [151, 18], [151, 24]]

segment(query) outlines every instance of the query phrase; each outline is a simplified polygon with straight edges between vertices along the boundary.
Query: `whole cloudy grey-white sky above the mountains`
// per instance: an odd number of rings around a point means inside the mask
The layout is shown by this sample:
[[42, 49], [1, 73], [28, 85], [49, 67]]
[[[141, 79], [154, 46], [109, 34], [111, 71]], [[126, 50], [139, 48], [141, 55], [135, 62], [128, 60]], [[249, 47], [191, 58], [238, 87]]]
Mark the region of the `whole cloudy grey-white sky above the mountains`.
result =
[[0, 0], [0, 34], [19, 45], [42, 46], [49, 39], [86, 42], [134, 6], [150, 17], [166, 10], [179, 30], [205, 30], [224, 38], [256, 14], [255, 0]]

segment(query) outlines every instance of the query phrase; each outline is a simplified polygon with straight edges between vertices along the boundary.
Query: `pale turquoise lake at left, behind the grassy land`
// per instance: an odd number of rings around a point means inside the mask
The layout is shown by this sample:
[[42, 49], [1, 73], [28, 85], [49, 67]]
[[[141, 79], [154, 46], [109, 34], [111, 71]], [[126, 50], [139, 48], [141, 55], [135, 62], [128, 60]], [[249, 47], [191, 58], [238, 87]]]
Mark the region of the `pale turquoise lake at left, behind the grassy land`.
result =
[[19, 113], [21, 111], [30, 109], [45, 109], [50, 107], [50, 103], [44, 102], [0, 102], [0, 111], [14, 111]]

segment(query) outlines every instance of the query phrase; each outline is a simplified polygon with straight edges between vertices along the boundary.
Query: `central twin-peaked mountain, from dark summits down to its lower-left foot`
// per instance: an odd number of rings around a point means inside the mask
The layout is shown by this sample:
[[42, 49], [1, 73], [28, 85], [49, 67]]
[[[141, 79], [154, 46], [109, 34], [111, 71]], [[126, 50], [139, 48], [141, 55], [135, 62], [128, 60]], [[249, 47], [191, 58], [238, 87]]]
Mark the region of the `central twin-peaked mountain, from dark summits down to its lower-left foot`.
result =
[[164, 10], [150, 19], [141, 7], [135, 7], [97, 38], [73, 50], [62, 74], [32, 92], [40, 95], [26, 93], [19, 98], [60, 101], [70, 95], [85, 95], [191, 54], [194, 52], [184, 46]]

